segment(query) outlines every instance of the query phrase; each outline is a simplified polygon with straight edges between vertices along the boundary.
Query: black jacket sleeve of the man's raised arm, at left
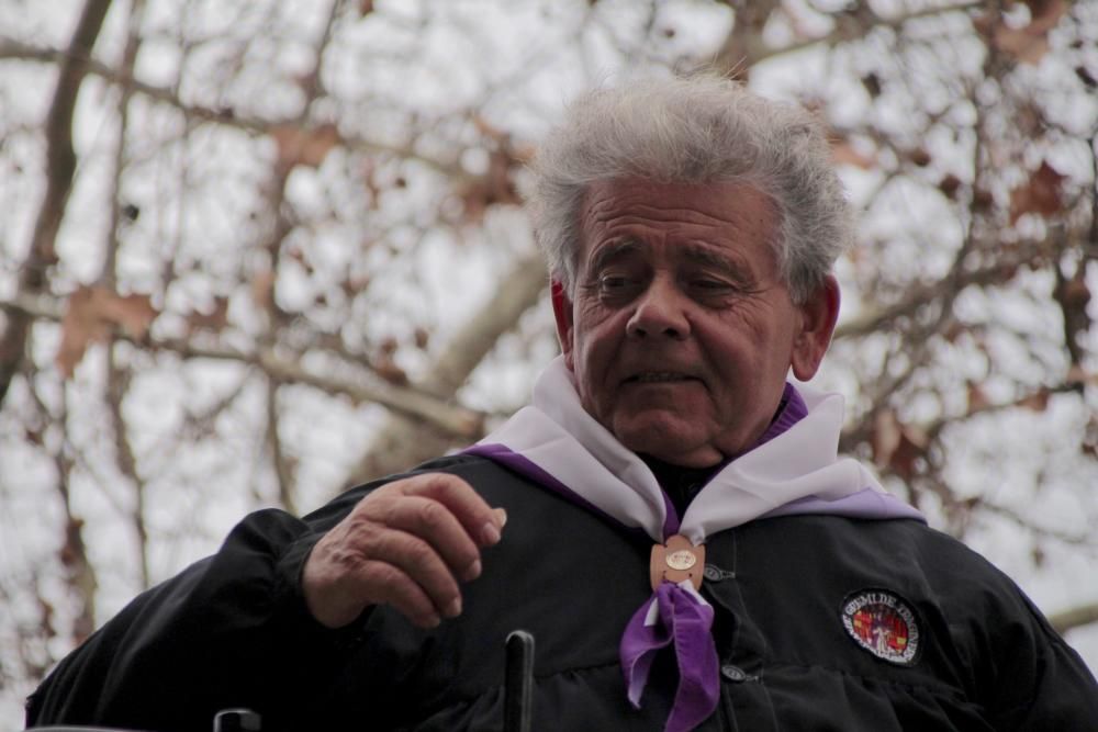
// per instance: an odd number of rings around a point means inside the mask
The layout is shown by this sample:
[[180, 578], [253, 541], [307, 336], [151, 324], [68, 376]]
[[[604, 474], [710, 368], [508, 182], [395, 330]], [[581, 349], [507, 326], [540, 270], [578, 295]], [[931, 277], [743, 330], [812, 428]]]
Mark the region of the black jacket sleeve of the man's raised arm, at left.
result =
[[67, 656], [29, 699], [27, 725], [209, 730], [216, 711], [247, 707], [267, 730], [268, 719], [296, 727], [300, 701], [337, 673], [358, 624], [321, 626], [299, 582], [347, 496], [313, 521], [246, 517], [216, 554], [139, 595]]

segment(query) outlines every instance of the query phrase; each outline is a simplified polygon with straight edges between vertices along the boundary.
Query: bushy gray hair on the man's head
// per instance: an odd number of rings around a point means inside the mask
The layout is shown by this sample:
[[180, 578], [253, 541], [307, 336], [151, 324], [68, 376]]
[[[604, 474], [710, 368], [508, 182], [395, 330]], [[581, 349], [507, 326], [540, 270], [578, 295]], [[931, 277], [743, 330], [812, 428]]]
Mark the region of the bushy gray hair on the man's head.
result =
[[806, 110], [704, 75], [647, 78], [590, 91], [569, 106], [531, 166], [527, 202], [553, 279], [574, 293], [587, 187], [636, 177], [732, 181], [768, 194], [780, 216], [773, 243], [796, 303], [853, 239], [853, 215], [822, 125]]

